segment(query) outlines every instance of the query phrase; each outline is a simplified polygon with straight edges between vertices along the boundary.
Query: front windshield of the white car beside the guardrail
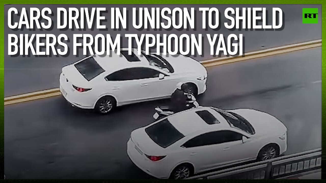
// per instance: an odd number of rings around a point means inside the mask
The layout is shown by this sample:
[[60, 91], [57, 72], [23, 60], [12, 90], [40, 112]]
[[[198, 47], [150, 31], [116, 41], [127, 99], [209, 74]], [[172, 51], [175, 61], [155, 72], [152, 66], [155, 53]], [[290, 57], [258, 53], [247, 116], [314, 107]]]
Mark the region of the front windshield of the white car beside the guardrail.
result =
[[234, 112], [226, 112], [218, 108], [213, 108], [220, 115], [222, 115], [233, 128], [238, 128], [248, 134], [255, 134], [254, 128], [251, 124], [245, 120], [242, 116], [234, 113]]

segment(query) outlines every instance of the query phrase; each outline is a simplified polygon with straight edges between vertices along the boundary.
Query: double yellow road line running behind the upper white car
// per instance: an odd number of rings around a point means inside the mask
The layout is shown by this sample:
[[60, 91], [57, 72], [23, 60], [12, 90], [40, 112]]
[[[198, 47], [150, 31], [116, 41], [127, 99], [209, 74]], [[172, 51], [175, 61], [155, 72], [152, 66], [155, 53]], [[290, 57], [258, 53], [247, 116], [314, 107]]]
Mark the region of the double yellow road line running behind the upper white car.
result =
[[[227, 64], [227, 63], [240, 62], [240, 61], [244, 61], [244, 60], [262, 58], [262, 57], [267, 57], [267, 56], [272, 56], [272, 55], [277, 55], [277, 54], [282, 54], [282, 53], [288, 53], [288, 52], [292, 52], [292, 51], [316, 48], [316, 47], [320, 47], [320, 46], [321, 46], [321, 39], [314, 40], [314, 41], [307, 41], [304, 43], [296, 43], [296, 44], [291, 44], [291, 45], [286, 45], [286, 46], [281, 46], [281, 47], [275, 47], [275, 48], [270, 48], [270, 49], [263, 49], [263, 50], [259, 50], [259, 51], [253, 51], [253, 52], [245, 53], [244, 56], [220, 57], [220, 58], [216, 58], [216, 59], [209, 59], [209, 60], [201, 61], [201, 63], [205, 67], [212, 67], [212, 66], [216, 66], [216, 65], [222, 65], [222, 64]], [[61, 95], [60, 89], [53, 88], [53, 89], [49, 89], [49, 90], [36, 91], [36, 92], [32, 92], [32, 93], [25, 93], [25, 94], [16, 95], [16, 96], [5, 97], [5, 106], [10, 105], [10, 104], [16, 104], [16, 103], [21, 103], [21, 102], [26, 102], [26, 101], [32, 101], [32, 100], [37, 100], [37, 99], [42, 99], [42, 98], [58, 96], [58, 95]]]

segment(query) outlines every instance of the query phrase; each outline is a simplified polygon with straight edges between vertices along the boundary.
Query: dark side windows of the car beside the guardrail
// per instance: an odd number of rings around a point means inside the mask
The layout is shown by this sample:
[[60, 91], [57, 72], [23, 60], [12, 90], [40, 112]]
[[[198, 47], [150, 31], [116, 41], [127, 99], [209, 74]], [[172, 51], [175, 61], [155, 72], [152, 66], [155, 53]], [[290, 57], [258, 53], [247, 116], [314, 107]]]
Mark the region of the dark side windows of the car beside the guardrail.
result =
[[209, 132], [209, 133], [198, 135], [188, 140], [183, 145], [183, 147], [192, 148], [192, 147], [199, 147], [199, 146], [222, 144], [226, 142], [242, 140], [242, 136], [243, 136], [242, 134], [229, 131], [229, 130]]

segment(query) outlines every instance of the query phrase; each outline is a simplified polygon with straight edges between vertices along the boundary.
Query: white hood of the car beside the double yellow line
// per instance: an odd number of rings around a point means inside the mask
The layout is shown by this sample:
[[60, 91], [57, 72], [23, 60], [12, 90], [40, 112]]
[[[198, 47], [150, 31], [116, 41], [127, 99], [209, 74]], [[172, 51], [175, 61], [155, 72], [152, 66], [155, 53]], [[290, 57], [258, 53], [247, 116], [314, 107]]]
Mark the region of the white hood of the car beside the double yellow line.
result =
[[184, 55], [161, 55], [174, 69], [175, 74], [193, 73], [207, 77], [206, 68], [197, 60]]

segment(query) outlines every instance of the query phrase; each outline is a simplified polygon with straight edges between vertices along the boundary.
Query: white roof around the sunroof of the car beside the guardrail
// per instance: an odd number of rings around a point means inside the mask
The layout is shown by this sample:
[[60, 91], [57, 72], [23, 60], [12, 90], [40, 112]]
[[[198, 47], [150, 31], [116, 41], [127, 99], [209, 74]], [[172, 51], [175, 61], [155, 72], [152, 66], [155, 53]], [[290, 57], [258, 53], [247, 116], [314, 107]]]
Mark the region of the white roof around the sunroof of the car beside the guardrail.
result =
[[[211, 113], [217, 120], [217, 123], [208, 124], [203, 120], [198, 113], [199, 111], [207, 110]], [[217, 131], [230, 129], [230, 124], [214, 109], [211, 107], [202, 107], [189, 109], [168, 117], [169, 122], [176, 128], [180, 133], [185, 136], [188, 134], [193, 134], [202, 131]]]

